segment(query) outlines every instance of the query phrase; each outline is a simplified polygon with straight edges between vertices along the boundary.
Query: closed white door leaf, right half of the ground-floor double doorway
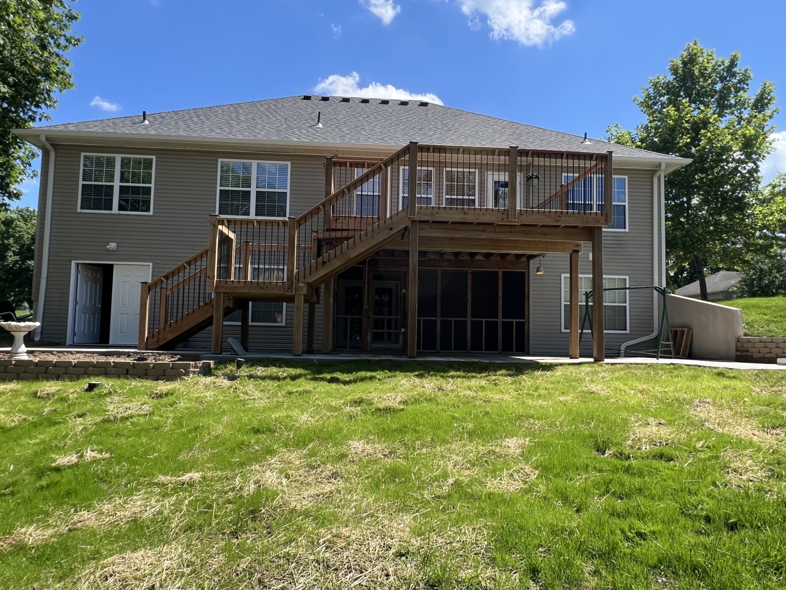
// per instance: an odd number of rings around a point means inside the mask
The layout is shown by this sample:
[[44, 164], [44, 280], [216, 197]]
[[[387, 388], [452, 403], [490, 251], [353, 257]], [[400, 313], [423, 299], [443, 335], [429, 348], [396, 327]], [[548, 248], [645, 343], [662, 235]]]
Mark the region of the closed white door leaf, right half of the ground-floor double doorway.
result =
[[133, 345], [139, 341], [139, 283], [150, 280], [147, 264], [116, 264], [112, 273], [112, 321], [109, 344]]

